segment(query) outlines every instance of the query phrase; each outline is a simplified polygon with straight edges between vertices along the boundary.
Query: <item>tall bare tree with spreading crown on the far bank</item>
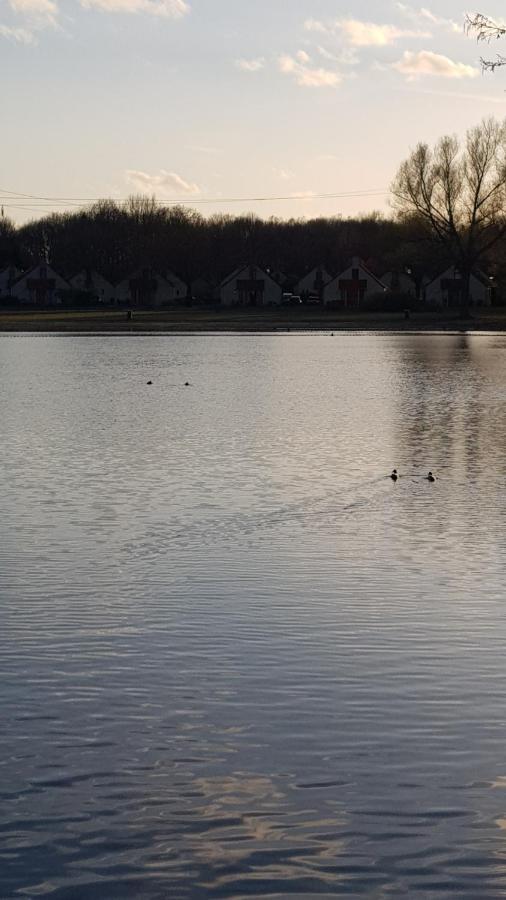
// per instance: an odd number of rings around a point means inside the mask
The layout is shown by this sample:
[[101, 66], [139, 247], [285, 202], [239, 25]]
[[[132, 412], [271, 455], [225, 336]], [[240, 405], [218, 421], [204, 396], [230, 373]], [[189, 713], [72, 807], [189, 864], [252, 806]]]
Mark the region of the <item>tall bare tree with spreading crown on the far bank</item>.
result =
[[466, 313], [473, 271], [506, 235], [506, 120], [485, 119], [462, 144], [418, 144], [391, 190], [398, 217], [416, 217], [458, 266]]

